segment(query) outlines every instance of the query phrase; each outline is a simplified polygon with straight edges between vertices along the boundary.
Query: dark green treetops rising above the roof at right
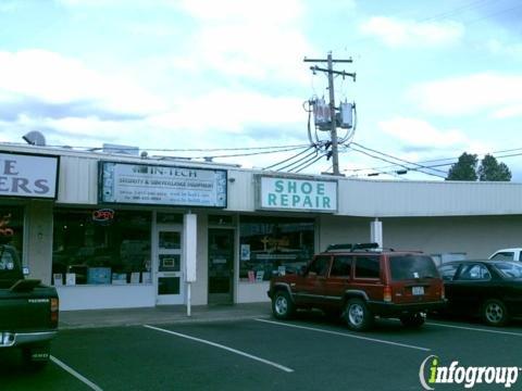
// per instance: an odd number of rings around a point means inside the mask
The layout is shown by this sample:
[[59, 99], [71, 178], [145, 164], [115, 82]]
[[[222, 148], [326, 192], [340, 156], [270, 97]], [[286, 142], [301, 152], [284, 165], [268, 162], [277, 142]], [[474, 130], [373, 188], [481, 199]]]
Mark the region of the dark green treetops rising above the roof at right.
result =
[[495, 156], [486, 154], [477, 168], [476, 154], [462, 153], [459, 161], [448, 172], [446, 180], [489, 180], [510, 181], [511, 172], [505, 163], [498, 163]]

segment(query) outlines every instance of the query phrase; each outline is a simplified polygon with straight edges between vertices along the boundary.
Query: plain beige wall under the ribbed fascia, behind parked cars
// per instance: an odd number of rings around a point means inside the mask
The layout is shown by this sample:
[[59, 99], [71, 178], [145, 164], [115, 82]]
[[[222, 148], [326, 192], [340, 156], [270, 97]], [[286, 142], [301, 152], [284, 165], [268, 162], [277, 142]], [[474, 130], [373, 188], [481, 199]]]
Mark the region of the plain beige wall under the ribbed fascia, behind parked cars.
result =
[[[428, 254], [467, 253], [485, 258], [501, 248], [522, 247], [522, 215], [381, 218], [383, 244]], [[333, 243], [369, 242], [371, 218], [322, 216], [320, 251]]]

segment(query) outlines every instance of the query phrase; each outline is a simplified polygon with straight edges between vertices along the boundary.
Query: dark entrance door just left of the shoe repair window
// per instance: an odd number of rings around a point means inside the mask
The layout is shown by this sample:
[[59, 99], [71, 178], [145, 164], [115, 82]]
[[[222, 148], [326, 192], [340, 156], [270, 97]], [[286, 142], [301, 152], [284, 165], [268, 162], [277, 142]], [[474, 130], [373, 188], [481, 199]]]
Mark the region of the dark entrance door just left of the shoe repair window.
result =
[[209, 304], [233, 303], [234, 229], [209, 229]]

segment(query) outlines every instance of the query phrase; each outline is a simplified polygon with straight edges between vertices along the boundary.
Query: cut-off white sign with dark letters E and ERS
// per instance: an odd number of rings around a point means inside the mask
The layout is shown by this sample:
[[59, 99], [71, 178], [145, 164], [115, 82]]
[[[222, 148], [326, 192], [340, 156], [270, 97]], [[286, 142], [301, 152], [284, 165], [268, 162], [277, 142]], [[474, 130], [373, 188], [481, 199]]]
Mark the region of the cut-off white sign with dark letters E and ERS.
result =
[[0, 153], [0, 195], [55, 199], [58, 156]]

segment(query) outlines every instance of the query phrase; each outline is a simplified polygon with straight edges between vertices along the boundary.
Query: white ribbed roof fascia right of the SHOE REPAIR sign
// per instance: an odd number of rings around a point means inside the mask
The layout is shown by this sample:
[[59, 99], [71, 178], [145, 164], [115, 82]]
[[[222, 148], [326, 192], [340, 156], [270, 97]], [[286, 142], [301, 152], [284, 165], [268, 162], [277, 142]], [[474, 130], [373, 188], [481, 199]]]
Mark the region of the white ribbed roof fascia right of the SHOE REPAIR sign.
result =
[[522, 184], [339, 180], [339, 214], [468, 216], [522, 213]]

